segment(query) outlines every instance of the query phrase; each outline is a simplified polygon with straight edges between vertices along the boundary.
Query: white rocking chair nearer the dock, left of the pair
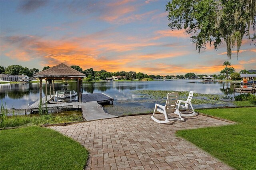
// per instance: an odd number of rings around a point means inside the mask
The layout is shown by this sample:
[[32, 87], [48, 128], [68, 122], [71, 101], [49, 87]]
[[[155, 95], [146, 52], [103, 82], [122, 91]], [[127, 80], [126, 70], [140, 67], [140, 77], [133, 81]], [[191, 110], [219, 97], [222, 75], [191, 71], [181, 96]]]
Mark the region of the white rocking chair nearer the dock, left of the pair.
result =
[[[182, 121], [182, 120], [184, 120], [180, 115], [179, 109], [176, 107], [177, 100], [178, 100], [178, 93], [175, 93], [175, 92], [174, 93], [168, 93], [165, 106], [162, 106], [162, 105], [159, 105], [159, 104], [155, 105], [154, 113], [151, 116], [153, 121], [155, 121], [157, 123], [168, 123], [170, 121]], [[168, 114], [174, 113], [175, 110], [177, 112], [177, 115], [179, 115], [179, 117], [178, 118], [170, 117]], [[160, 113], [164, 114], [165, 120], [164, 121], [159, 121], [158, 119], [156, 119], [154, 117], [156, 112], [160, 112]]]

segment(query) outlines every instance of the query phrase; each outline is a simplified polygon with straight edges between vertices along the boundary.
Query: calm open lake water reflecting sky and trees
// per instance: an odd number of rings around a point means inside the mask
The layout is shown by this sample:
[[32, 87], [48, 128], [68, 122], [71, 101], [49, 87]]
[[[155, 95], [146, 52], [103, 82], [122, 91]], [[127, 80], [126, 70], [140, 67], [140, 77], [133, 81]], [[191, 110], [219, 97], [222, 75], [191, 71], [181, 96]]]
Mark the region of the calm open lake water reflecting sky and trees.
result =
[[[164, 100], [141, 97], [134, 90], [170, 90], [191, 91], [202, 94], [217, 94], [234, 97], [233, 88], [240, 83], [208, 82], [199, 80], [171, 80], [171, 81], [134, 81], [134, 82], [83, 82], [82, 93], [104, 93], [114, 98], [114, 105], [105, 105], [104, 110], [113, 115], [152, 112], [154, 103], [164, 104]], [[55, 91], [65, 87], [64, 83], [55, 83]], [[49, 88], [49, 85], [48, 85]], [[68, 89], [78, 91], [76, 82], [69, 82]], [[49, 92], [49, 89], [48, 89]], [[43, 97], [45, 83], [43, 83]], [[48, 94], [49, 95], [49, 94]], [[8, 108], [26, 108], [39, 99], [39, 83], [18, 83], [0, 85], [1, 104]], [[193, 104], [193, 103], [192, 103]], [[225, 104], [232, 106], [232, 103]], [[194, 105], [195, 108], [218, 107], [222, 105], [207, 104]]]

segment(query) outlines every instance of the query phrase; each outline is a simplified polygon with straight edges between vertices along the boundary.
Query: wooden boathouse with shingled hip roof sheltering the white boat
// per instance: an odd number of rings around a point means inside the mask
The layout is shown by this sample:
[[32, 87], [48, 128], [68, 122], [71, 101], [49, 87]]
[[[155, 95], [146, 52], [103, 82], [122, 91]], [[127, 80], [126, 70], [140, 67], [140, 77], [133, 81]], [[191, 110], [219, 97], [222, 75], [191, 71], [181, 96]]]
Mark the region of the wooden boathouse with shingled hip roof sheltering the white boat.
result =
[[[42, 101], [42, 79], [46, 81], [46, 100], [47, 100], [47, 81], [50, 84], [50, 94], [51, 94], [51, 87], [53, 84], [53, 91], [54, 91], [54, 80], [77, 80], [78, 83], [78, 101], [81, 101], [81, 85], [82, 79], [86, 77], [83, 73], [72, 69], [68, 65], [63, 63], [41, 71], [39, 73], [34, 74], [34, 77], [38, 77], [40, 80], [40, 101]], [[54, 91], [55, 92], [55, 91]], [[54, 93], [53, 93], [54, 95]]]

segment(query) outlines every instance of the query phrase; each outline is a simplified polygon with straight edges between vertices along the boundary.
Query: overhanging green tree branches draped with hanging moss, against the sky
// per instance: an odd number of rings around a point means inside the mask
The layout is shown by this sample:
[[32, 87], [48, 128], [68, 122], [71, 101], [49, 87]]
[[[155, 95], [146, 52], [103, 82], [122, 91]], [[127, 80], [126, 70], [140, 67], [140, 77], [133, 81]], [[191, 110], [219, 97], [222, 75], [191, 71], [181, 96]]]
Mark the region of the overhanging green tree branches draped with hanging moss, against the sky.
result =
[[224, 41], [228, 58], [235, 42], [238, 54], [242, 38], [250, 39], [250, 26], [254, 30], [252, 41], [256, 40], [256, 0], [172, 0], [166, 11], [171, 30], [184, 29], [192, 34], [191, 41], [199, 52], [208, 42], [218, 49]]

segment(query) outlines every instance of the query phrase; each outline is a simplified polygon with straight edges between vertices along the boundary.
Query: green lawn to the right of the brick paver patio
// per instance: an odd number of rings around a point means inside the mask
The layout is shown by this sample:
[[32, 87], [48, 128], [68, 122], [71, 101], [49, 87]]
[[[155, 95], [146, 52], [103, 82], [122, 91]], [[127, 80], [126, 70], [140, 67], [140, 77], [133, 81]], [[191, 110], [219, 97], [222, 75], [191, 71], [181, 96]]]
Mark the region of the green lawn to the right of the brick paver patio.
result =
[[237, 122], [236, 125], [180, 130], [176, 134], [238, 170], [255, 170], [256, 107], [204, 109], [200, 113]]

